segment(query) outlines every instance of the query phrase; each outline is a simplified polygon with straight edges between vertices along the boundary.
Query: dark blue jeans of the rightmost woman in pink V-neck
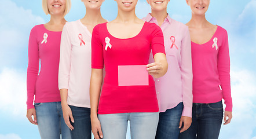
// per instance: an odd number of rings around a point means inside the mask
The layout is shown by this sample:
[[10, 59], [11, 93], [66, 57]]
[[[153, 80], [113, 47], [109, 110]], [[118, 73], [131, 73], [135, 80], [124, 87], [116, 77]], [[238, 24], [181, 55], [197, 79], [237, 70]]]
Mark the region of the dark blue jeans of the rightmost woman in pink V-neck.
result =
[[222, 101], [210, 104], [193, 103], [192, 124], [180, 134], [180, 139], [217, 139], [222, 119]]

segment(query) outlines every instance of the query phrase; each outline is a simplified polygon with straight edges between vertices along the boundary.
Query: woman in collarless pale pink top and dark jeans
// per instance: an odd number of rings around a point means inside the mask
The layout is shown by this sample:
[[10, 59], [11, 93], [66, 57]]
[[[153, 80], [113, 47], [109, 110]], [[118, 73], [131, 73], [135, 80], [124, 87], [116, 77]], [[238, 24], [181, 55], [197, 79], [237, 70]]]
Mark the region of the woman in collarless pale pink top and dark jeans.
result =
[[92, 31], [105, 23], [100, 12], [104, 0], [83, 0], [86, 14], [83, 19], [64, 25], [60, 45], [58, 88], [65, 123], [72, 139], [92, 138], [90, 122], [90, 76], [92, 71]]

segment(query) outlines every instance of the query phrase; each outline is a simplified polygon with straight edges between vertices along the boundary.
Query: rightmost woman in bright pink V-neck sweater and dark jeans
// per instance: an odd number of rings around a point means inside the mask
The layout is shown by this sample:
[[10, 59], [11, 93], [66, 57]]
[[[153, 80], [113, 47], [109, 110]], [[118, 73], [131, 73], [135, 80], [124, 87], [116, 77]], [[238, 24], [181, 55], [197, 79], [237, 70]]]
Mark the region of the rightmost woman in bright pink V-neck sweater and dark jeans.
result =
[[180, 138], [218, 138], [226, 108], [224, 125], [232, 119], [228, 34], [206, 20], [210, 0], [186, 0], [192, 18], [186, 24], [191, 34], [193, 68], [192, 124]]

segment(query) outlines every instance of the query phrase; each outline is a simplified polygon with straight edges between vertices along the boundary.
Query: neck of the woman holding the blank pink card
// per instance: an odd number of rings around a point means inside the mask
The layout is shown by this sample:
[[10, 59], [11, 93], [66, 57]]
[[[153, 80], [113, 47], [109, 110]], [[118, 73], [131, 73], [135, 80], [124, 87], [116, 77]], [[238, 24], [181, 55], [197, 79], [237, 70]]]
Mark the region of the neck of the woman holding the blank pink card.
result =
[[135, 20], [137, 20], [138, 17], [135, 14], [135, 9], [131, 10], [129, 12], [122, 11], [118, 9], [118, 16], [116, 17], [116, 21], [119, 21], [121, 23], [132, 23]]

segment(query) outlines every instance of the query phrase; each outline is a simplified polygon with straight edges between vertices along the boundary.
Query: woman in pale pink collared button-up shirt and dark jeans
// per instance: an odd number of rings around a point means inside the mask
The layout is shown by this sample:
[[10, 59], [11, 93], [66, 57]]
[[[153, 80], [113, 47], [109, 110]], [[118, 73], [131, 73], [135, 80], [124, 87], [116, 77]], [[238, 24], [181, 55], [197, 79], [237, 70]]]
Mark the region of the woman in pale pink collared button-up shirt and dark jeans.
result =
[[[177, 139], [192, 121], [191, 39], [188, 27], [167, 13], [169, 0], [147, 2], [152, 13], [142, 20], [161, 27], [168, 62], [166, 74], [155, 79], [160, 110], [156, 138]], [[149, 57], [149, 61], [152, 60]]]

